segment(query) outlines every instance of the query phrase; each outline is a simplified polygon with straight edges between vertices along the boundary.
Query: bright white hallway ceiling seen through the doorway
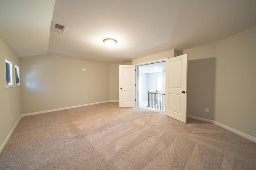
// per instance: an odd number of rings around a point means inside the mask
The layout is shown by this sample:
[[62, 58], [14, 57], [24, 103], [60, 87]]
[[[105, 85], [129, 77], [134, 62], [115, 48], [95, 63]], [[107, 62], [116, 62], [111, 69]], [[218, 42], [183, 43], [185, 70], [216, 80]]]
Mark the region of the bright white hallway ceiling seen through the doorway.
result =
[[166, 62], [160, 62], [160, 63], [153, 63], [153, 64], [146, 64], [139, 66], [140, 73], [154, 73], [154, 72], [162, 72], [162, 70], [165, 70], [166, 68]]

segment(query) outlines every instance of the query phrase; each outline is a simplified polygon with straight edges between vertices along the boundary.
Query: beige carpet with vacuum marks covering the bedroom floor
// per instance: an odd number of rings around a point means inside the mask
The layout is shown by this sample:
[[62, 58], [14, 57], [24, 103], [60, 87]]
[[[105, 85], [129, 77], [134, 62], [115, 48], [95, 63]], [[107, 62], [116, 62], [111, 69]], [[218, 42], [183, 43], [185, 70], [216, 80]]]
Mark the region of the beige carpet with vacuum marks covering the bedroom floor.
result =
[[256, 143], [211, 123], [110, 102], [22, 117], [0, 169], [256, 170]]

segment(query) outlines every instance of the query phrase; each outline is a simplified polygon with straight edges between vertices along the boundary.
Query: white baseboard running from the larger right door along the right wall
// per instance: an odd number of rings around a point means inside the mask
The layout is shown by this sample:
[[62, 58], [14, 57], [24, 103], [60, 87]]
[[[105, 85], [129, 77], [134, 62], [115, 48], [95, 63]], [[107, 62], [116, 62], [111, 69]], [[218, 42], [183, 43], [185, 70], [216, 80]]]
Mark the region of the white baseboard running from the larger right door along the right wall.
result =
[[251, 140], [251, 141], [256, 142], [256, 138], [255, 138], [255, 137], [252, 137], [252, 136], [250, 136], [250, 135], [247, 135], [246, 133], [243, 133], [243, 132], [241, 132], [241, 131], [238, 131], [238, 130], [236, 130], [236, 129], [233, 129], [232, 127], [229, 127], [229, 126], [227, 126], [227, 125], [223, 125], [222, 123], [219, 123], [219, 122], [217, 122], [217, 121], [210, 120], [210, 119], [204, 119], [204, 118], [196, 117], [196, 116], [192, 116], [192, 115], [187, 115], [187, 117], [192, 118], [192, 119], [197, 119], [197, 120], [202, 120], [202, 121], [214, 123], [215, 125], [218, 125], [218, 126], [220, 126], [220, 127], [223, 127], [224, 129], [227, 129], [227, 130], [229, 130], [229, 131], [232, 131], [232, 132], [234, 132], [234, 133], [236, 133], [236, 134], [238, 134], [238, 135], [240, 135], [240, 136], [242, 136], [242, 137], [245, 137], [245, 138], [247, 138], [247, 139], [249, 139], [249, 140]]

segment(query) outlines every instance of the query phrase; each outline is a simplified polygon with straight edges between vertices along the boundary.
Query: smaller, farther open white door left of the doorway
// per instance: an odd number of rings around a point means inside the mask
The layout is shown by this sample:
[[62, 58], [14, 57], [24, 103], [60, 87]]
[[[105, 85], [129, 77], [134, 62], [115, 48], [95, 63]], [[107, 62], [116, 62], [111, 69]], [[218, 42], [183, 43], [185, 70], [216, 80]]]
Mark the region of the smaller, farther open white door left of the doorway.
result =
[[119, 107], [135, 107], [135, 66], [119, 66]]

